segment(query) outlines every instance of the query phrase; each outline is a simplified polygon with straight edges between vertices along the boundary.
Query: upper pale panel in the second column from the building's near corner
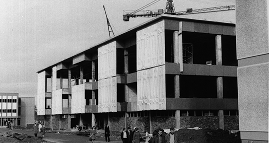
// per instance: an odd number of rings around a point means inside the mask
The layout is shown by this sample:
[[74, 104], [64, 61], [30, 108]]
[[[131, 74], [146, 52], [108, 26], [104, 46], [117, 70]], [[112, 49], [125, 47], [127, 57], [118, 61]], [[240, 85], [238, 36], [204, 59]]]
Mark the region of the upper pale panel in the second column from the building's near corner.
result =
[[98, 48], [98, 79], [116, 76], [116, 41]]

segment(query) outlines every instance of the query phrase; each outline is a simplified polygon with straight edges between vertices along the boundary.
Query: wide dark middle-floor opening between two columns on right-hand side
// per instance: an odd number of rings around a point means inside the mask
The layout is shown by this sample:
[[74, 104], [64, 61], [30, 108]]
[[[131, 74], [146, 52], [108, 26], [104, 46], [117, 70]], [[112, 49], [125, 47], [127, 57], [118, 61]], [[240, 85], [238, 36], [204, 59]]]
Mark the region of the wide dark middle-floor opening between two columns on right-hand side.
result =
[[217, 98], [216, 76], [180, 75], [181, 98]]

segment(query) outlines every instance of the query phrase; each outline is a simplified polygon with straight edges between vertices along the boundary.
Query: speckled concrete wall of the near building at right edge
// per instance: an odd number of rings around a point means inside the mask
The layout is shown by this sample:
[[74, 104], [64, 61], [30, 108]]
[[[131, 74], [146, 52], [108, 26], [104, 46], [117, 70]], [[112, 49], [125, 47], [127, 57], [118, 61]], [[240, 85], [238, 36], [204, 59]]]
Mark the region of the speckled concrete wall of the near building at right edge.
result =
[[236, 0], [242, 143], [268, 143], [269, 1]]

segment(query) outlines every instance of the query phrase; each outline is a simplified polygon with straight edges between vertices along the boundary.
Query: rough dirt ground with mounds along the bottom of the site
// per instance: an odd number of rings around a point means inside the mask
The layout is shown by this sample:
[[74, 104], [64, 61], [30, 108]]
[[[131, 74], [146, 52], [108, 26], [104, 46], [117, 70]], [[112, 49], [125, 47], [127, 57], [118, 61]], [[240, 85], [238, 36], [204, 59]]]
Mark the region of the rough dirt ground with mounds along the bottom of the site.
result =
[[[0, 129], [0, 143], [60, 143], [60, 142], [48, 142], [42, 140], [40, 136], [34, 137], [32, 135], [32, 131], [28, 130], [17, 130], [15, 132], [22, 133], [20, 136], [25, 138], [23, 140], [18, 140], [19, 135], [15, 137], [8, 136], [5, 132], [8, 131], [6, 129]], [[28, 135], [27, 135], [28, 134]], [[89, 143], [87, 141], [88, 137], [77, 136], [76, 134], [68, 134], [61, 132], [60, 134], [67, 134], [69, 138], [78, 138], [81, 143]], [[241, 143], [240, 134], [235, 133], [232, 134], [229, 131], [223, 130], [211, 130], [211, 129], [200, 129], [200, 130], [190, 130], [190, 129], [180, 129], [175, 134], [179, 137], [179, 140], [176, 143]], [[30, 136], [29, 136], [30, 135]], [[67, 138], [67, 136], [55, 136], [59, 135], [57, 133], [48, 133], [44, 139], [51, 138], [54, 136], [56, 138]], [[142, 134], [143, 135], [143, 134]], [[72, 137], [71, 137], [72, 136]], [[111, 133], [111, 143], [122, 143], [120, 139], [120, 132], [112, 132]], [[83, 141], [85, 140], [85, 141]], [[76, 140], [77, 141], [77, 140]], [[83, 141], [83, 142], [82, 142]], [[143, 141], [144, 142], [144, 141]], [[141, 142], [141, 143], [143, 143]], [[61, 143], [73, 143], [72, 141]], [[96, 143], [105, 143], [103, 134], [98, 134]]]

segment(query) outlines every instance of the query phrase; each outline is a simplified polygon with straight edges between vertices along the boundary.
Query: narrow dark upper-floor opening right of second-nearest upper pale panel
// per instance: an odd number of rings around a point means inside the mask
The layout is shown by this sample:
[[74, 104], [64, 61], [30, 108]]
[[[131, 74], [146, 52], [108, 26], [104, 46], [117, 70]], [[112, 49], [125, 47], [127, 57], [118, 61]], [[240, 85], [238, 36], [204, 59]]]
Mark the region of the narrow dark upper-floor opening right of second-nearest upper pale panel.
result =
[[124, 49], [117, 48], [117, 74], [124, 74]]

